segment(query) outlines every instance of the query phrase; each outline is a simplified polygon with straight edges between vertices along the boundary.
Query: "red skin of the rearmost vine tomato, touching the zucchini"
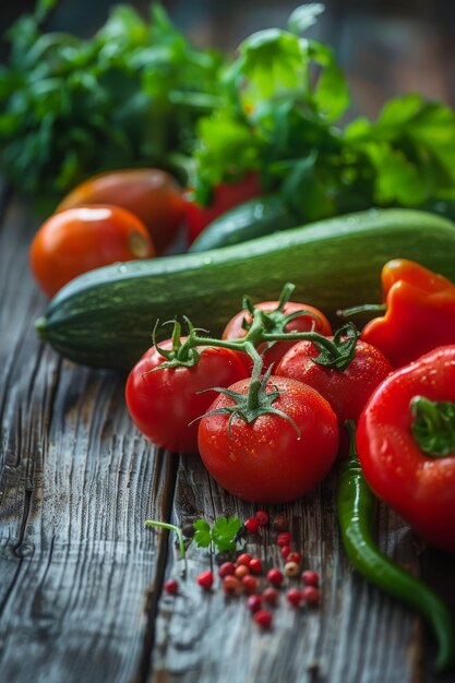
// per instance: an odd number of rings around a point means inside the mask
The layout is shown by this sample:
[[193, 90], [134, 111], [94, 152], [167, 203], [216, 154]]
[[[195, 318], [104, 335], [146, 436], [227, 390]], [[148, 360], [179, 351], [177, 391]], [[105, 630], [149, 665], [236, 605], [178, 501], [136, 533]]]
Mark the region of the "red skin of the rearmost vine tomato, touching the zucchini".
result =
[[[262, 311], [274, 311], [278, 307], [278, 301], [262, 301], [261, 303], [255, 303], [254, 308], [261, 309]], [[319, 309], [315, 309], [308, 303], [299, 303], [297, 301], [288, 301], [285, 303], [283, 308], [283, 313], [290, 314], [296, 311], [301, 311], [302, 309], [312, 313], [312, 315], [299, 315], [299, 317], [295, 317], [291, 320], [285, 328], [285, 332], [319, 332], [325, 336], [332, 334], [332, 327], [328, 320], [325, 317], [324, 313], [322, 313]], [[242, 327], [243, 320], [251, 322], [251, 314], [249, 311], [243, 309], [239, 313], [237, 313], [230, 321], [227, 323], [225, 329], [223, 331], [223, 339], [239, 339], [246, 336], [247, 329]], [[277, 368], [278, 362], [283, 358], [283, 356], [288, 351], [296, 342], [275, 342], [270, 349], [265, 350], [266, 345], [261, 344], [258, 347], [258, 351], [260, 354], [263, 352], [263, 368], [266, 370], [270, 366], [274, 364], [274, 371]], [[247, 368], [251, 371], [252, 360], [246, 354], [242, 354], [242, 358]]]

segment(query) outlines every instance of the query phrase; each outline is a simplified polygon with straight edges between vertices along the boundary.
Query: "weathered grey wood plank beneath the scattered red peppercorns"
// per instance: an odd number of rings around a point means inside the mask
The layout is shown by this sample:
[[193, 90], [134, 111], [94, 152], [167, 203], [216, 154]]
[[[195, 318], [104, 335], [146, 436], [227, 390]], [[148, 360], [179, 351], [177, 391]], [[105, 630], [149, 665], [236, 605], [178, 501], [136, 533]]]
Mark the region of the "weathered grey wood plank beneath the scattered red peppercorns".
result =
[[[195, 576], [209, 566], [211, 559], [190, 547], [189, 577], [181, 582], [180, 595], [164, 596], [160, 601], [149, 683], [418, 680], [419, 619], [348, 566], [334, 512], [335, 478], [334, 472], [310, 495], [279, 508], [291, 523], [303, 568], [320, 573], [321, 606], [296, 611], [282, 595], [275, 627], [261, 634], [251, 623], [243, 597], [226, 601], [219, 583], [212, 595], [201, 591]], [[271, 513], [277, 511], [270, 508]], [[252, 512], [251, 506], [223, 492], [197, 458], [182, 459], [173, 511], [179, 524], [199, 516], [213, 520], [226, 514], [244, 519]], [[417, 572], [414, 540], [404, 524], [383, 511], [379, 526], [384, 550]], [[260, 554], [266, 566], [283, 566], [271, 530], [265, 530], [260, 543], [250, 538], [248, 549]], [[177, 573], [176, 556], [170, 553], [168, 575]], [[294, 580], [287, 582], [287, 586], [292, 585]]]

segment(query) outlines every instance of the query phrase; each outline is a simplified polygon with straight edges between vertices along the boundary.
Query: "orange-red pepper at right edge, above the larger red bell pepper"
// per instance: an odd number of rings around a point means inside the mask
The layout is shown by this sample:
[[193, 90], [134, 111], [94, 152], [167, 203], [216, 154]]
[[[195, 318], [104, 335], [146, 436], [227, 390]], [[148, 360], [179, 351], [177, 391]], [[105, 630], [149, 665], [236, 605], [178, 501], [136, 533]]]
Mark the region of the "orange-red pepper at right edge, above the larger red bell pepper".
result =
[[385, 314], [360, 338], [379, 348], [393, 368], [455, 344], [455, 285], [414, 261], [388, 261], [381, 274]]

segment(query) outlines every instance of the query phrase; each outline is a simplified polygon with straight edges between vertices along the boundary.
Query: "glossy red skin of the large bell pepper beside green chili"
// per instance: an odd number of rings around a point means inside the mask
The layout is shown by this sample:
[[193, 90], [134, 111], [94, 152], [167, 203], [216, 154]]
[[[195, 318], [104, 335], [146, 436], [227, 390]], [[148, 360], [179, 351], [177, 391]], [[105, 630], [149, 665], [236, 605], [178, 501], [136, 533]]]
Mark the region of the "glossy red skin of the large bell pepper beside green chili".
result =
[[394, 372], [368, 402], [357, 428], [364, 477], [375, 494], [430, 544], [455, 552], [455, 453], [433, 458], [410, 431], [414, 396], [455, 402], [455, 346]]

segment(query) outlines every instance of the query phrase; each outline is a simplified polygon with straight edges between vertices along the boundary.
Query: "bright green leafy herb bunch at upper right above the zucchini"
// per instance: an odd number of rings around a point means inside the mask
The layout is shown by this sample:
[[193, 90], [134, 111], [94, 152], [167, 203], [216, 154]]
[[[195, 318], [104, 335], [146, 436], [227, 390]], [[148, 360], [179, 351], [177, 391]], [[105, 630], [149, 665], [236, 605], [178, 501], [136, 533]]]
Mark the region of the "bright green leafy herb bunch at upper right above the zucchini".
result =
[[243, 40], [223, 71], [224, 101], [197, 125], [196, 197], [260, 173], [302, 221], [376, 206], [455, 199], [455, 113], [410, 94], [375, 122], [342, 121], [350, 105], [330, 47], [301, 37], [323, 11], [297, 8], [288, 28]]

